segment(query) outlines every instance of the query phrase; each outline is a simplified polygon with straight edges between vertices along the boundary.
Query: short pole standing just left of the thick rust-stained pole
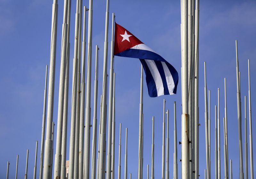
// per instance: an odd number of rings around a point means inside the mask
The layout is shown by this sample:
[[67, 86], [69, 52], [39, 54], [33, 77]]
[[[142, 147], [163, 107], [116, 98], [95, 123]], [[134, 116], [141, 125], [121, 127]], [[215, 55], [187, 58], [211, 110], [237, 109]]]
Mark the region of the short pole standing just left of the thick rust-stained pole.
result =
[[174, 153], [173, 153], [173, 179], [178, 179], [178, 164], [177, 164], [177, 124], [176, 124], [176, 101], [174, 101]]

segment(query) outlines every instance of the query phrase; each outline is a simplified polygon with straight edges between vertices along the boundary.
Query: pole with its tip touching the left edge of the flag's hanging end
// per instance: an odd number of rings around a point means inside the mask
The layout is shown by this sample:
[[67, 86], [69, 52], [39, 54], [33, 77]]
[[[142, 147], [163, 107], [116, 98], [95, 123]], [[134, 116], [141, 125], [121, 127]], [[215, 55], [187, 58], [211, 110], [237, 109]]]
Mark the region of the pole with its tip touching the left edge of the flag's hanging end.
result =
[[143, 113], [143, 67], [140, 71], [140, 117], [139, 117], [139, 161], [138, 161], [138, 179], [141, 178], [141, 156], [142, 156], [142, 113]]

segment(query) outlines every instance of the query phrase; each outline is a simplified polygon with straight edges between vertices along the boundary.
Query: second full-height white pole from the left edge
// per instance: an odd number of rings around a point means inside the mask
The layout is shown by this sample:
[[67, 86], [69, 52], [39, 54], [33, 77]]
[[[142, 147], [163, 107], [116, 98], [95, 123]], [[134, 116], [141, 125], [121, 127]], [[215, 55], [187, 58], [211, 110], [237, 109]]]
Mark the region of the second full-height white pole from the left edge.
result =
[[[61, 38], [61, 57], [60, 57], [60, 84], [59, 84], [59, 101], [58, 101], [58, 121], [57, 121], [57, 138], [56, 153], [54, 159], [54, 178], [60, 178], [61, 171], [61, 142], [63, 126], [63, 108], [64, 108], [64, 87], [66, 73], [66, 55], [67, 55], [67, 11], [68, 0], [64, 1], [62, 38]], [[34, 178], [35, 179], [35, 178]]]

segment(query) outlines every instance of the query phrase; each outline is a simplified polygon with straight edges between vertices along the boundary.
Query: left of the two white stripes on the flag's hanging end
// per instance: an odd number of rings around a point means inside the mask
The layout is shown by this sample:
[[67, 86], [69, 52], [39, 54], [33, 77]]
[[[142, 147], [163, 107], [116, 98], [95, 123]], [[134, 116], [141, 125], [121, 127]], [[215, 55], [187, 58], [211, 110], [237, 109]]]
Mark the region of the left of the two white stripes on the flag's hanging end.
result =
[[156, 63], [154, 62], [154, 60], [148, 59], [145, 59], [145, 62], [147, 63], [151, 75], [156, 83], [157, 96], [164, 95], [164, 85], [160, 73], [156, 67]]

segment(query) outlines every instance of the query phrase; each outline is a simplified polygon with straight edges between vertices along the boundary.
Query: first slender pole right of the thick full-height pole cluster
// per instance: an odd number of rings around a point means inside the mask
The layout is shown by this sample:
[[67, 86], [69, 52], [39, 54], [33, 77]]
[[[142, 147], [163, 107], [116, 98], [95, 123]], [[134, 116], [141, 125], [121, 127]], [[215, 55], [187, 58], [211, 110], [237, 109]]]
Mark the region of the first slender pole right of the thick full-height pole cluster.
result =
[[209, 134], [208, 134], [208, 112], [207, 112], [207, 86], [206, 86], [206, 62], [204, 62], [204, 123], [205, 123], [205, 153], [206, 153], [206, 171], [207, 179], [210, 178], [209, 161]]

